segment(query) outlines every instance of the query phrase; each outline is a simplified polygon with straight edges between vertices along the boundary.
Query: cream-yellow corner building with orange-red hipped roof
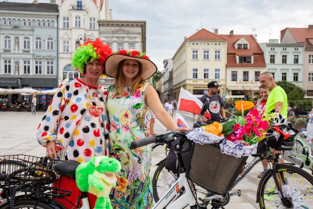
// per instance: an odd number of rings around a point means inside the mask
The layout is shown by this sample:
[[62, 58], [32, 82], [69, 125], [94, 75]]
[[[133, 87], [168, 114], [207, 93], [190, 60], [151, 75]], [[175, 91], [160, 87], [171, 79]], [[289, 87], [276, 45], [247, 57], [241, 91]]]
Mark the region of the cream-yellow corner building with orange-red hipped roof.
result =
[[173, 56], [173, 99], [178, 101], [180, 88], [203, 95], [207, 84], [217, 81], [220, 93], [226, 91], [227, 42], [202, 28], [185, 40]]

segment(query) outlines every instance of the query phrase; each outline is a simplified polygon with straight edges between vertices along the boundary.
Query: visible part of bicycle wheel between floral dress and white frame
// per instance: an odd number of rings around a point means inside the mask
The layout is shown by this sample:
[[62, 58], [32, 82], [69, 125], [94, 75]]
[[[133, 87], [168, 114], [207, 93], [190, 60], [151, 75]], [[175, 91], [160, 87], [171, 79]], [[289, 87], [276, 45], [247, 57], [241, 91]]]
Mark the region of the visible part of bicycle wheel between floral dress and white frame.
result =
[[179, 178], [179, 174], [165, 168], [165, 162], [164, 160], [157, 166], [156, 172], [153, 175], [152, 190], [155, 202], [157, 202]]

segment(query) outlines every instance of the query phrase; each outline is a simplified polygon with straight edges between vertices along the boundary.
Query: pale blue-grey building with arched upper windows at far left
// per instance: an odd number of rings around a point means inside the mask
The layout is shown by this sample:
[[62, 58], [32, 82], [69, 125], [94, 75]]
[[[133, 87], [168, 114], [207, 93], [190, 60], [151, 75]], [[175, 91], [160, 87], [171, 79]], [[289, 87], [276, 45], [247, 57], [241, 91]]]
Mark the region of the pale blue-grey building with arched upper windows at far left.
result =
[[[57, 87], [58, 15], [55, 0], [0, 2], [0, 88]], [[29, 101], [17, 94], [9, 95], [9, 103], [18, 96]]]

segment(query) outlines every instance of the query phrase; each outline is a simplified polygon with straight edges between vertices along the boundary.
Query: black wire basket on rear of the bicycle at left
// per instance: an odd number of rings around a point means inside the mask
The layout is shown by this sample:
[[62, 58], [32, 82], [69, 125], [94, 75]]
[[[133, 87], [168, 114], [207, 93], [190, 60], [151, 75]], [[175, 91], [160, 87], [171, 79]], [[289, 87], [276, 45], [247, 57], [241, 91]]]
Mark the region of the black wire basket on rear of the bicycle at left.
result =
[[53, 170], [57, 162], [59, 161], [47, 157], [0, 156], [0, 188], [26, 184], [34, 186], [51, 184], [57, 178]]

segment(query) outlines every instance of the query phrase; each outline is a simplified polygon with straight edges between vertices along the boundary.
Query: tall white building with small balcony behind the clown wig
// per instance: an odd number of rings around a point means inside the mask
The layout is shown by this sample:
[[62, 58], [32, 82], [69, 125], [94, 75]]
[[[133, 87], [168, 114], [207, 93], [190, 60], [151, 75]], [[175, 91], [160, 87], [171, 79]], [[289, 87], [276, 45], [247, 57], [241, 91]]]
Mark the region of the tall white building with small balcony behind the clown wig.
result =
[[99, 37], [99, 20], [112, 18], [109, 0], [59, 0], [59, 77], [61, 83], [66, 78], [79, 78], [80, 73], [71, 66], [71, 57], [87, 39]]

